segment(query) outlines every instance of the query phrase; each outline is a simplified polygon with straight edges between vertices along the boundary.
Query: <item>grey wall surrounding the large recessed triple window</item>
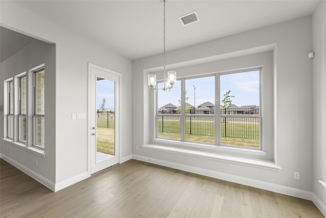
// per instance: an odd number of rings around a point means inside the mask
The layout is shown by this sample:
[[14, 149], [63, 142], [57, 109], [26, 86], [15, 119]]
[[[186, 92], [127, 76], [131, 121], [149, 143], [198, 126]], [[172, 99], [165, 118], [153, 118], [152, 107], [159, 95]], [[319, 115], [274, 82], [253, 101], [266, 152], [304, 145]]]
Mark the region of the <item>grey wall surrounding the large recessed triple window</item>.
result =
[[[161, 66], [161, 55], [133, 61], [134, 84], [145, 85], [147, 88], [134, 86], [132, 89], [132, 104], [138, 108], [132, 114], [132, 154], [147, 160], [156, 159], [171, 165], [201, 168], [203, 171], [231, 175], [233, 178], [246, 178], [311, 193], [312, 109], [309, 106], [312, 105], [312, 60], [307, 57], [312, 50], [311, 16], [167, 52], [167, 68], [184, 63], [192, 65], [202, 59], [271, 44], [276, 45], [275, 139], [277, 163], [282, 168], [281, 171], [143, 148], [142, 145], [150, 141], [150, 118], [145, 112], [149, 111], [148, 98], [151, 95], [150, 87], [145, 83], [147, 78], [144, 70]], [[294, 180], [293, 172], [300, 172], [301, 180]]]

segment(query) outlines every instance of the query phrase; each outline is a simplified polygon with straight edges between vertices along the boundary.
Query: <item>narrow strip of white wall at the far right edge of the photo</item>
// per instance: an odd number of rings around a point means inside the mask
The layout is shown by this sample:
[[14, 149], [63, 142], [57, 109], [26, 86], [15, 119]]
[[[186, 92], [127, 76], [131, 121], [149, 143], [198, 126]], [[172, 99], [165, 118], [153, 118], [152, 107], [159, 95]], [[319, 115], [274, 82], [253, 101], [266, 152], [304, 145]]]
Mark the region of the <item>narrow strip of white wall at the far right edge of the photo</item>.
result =
[[[313, 192], [320, 200], [314, 201], [326, 215], [326, 2], [323, 1], [313, 14]], [[318, 203], [319, 202], [319, 203]]]

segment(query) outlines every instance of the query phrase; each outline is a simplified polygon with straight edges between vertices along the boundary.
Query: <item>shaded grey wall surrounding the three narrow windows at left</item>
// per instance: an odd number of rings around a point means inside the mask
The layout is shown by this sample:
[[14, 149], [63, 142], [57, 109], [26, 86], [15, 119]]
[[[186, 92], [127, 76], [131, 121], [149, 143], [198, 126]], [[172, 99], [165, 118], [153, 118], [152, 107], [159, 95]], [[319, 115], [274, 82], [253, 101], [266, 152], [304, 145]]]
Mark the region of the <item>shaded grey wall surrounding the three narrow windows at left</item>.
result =
[[[38, 175], [50, 181], [55, 182], [55, 128], [52, 124], [55, 123], [55, 111], [51, 110], [52, 102], [55, 102], [55, 59], [56, 59], [56, 45], [48, 44], [40, 40], [33, 40], [16, 54], [6, 59], [1, 63], [1, 81], [0, 87], [4, 89], [4, 81], [14, 78], [22, 72], [29, 73], [29, 70], [41, 64], [45, 66], [45, 141], [44, 148], [45, 156], [36, 154], [24, 147], [17, 146], [11, 142], [2, 141], [1, 154], [2, 158], [17, 165], [28, 169], [32, 174]], [[4, 105], [4, 94], [0, 96], [2, 105]], [[29, 99], [31, 102], [31, 99]], [[3, 113], [1, 114], [3, 120]], [[3, 127], [3, 123], [1, 126]], [[4, 138], [1, 132], [1, 138]], [[35, 161], [38, 164], [35, 164]], [[53, 187], [52, 187], [53, 188]]]

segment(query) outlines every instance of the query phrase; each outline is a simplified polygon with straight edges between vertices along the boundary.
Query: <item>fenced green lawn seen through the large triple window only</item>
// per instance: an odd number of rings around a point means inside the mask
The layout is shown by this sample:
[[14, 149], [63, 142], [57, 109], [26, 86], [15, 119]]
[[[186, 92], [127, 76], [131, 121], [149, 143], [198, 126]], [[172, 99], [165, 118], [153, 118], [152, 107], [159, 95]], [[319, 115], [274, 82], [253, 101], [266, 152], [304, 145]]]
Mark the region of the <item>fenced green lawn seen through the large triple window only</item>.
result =
[[[240, 119], [239, 119], [240, 118]], [[227, 122], [221, 122], [221, 144], [259, 148], [259, 124], [257, 118], [227, 117]], [[224, 118], [223, 118], [224, 120]], [[158, 137], [180, 140], [180, 118], [159, 117], [157, 120]], [[215, 143], [215, 126], [212, 117], [187, 117], [187, 141]]]

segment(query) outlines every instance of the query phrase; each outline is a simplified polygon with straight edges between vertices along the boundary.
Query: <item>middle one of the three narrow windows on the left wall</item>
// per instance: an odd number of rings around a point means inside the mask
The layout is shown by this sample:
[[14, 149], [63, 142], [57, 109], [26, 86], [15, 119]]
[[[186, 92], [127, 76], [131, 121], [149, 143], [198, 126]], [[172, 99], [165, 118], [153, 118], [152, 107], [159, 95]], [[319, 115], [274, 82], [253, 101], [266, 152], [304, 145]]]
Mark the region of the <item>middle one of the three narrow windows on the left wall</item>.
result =
[[27, 83], [26, 75], [18, 78], [18, 135], [19, 141], [26, 142]]

